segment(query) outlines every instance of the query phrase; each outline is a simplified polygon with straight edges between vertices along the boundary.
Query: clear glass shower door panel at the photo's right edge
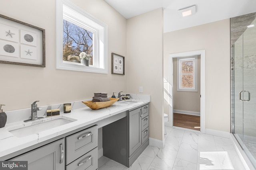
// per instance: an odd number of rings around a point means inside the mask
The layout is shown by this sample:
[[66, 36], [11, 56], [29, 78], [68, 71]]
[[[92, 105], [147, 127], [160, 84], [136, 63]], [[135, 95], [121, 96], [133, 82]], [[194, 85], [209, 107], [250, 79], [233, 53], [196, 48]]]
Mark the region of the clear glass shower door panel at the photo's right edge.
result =
[[247, 28], [243, 39], [244, 150], [256, 166], [256, 26]]

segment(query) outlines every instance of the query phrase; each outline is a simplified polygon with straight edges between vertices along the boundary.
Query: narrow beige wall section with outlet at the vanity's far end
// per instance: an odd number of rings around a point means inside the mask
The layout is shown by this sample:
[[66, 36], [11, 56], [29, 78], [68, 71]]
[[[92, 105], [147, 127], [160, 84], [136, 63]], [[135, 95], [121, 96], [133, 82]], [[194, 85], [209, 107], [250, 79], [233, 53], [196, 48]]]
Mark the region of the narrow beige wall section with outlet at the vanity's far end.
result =
[[127, 20], [127, 91], [150, 94], [149, 136], [163, 140], [162, 8]]

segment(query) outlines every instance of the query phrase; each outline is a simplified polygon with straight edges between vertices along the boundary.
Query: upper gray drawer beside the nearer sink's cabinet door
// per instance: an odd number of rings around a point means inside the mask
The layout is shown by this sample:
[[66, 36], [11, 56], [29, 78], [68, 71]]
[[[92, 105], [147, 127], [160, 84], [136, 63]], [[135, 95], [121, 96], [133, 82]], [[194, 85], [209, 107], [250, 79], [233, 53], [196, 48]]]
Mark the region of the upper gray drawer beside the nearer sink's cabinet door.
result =
[[66, 137], [66, 165], [98, 146], [98, 126]]

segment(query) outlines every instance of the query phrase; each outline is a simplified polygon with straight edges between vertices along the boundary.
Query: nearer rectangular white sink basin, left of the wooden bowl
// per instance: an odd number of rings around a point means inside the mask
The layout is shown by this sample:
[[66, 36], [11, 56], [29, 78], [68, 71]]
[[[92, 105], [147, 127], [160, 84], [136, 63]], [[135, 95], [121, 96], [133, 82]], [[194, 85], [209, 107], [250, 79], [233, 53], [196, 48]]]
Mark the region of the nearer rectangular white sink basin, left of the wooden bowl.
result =
[[6, 130], [8, 130], [10, 133], [15, 135], [16, 137], [25, 137], [28, 135], [36, 134], [38, 132], [46, 131], [48, 129], [52, 129], [54, 127], [65, 125], [73, 121], [76, 121], [76, 119], [72, 119], [64, 116], [46, 117], [44, 119], [38, 119], [35, 121], [29, 121], [26, 123], [24, 122], [22, 123], [22, 125], [9, 127]]

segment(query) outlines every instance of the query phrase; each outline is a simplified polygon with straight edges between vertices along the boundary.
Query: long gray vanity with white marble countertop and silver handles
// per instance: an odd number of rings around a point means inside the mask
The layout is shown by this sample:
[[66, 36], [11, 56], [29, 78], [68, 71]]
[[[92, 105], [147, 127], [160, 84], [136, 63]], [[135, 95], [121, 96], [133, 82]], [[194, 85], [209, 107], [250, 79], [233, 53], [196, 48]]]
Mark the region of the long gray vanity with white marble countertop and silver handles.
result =
[[[116, 102], [111, 107], [98, 110], [79, 102], [76, 108], [75, 102], [71, 113], [45, 118], [70, 119], [69, 123], [29, 135], [12, 134], [12, 129], [18, 124], [27, 126], [23, 121], [8, 123], [0, 129], [0, 145], [5, 146], [0, 148], [0, 160], [26, 160], [29, 170], [51, 170], [54, 167], [57, 170], [96, 170], [98, 129], [102, 127], [103, 155], [113, 160], [115, 158], [111, 155], [122, 157], [125, 162], [116, 161], [129, 167], [149, 144], [149, 102], [150, 96], [131, 99], [127, 104]], [[47, 106], [42, 108], [47, 109]], [[111, 132], [112, 128], [115, 131]], [[116, 150], [111, 150], [111, 147]]]

